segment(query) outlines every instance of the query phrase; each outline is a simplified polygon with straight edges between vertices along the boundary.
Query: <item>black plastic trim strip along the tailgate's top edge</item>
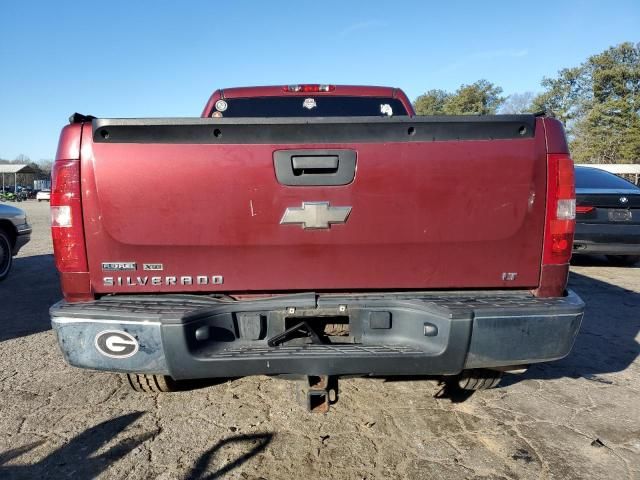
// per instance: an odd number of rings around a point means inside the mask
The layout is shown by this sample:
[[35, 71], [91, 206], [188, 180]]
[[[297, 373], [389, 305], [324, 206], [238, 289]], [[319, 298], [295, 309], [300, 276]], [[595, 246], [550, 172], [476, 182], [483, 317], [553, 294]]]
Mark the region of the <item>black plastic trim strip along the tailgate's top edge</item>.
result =
[[533, 115], [93, 120], [95, 143], [290, 144], [533, 138]]

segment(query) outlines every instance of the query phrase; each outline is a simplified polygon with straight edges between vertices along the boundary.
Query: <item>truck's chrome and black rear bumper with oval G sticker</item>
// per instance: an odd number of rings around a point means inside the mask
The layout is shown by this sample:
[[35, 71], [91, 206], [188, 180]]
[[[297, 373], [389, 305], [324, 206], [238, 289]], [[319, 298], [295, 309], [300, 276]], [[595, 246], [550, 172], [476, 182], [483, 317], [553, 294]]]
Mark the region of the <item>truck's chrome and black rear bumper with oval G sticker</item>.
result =
[[[175, 379], [450, 375], [562, 358], [571, 350], [583, 311], [573, 292], [546, 299], [524, 292], [308, 293], [251, 301], [164, 295], [62, 301], [51, 308], [51, 320], [66, 361], [96, 370]], [[306, 317], [312, 324], [326, 316], [348, 317], [350, 343], [309, 344], [298, 338], [267, 344], [290, 317]], [[115, 355], [101, 353], [97, 337], [104, 340], [109, 332], [135, 338], [135, 353], [120, 356], [124, 349], [117, 337], [109, 339]]]

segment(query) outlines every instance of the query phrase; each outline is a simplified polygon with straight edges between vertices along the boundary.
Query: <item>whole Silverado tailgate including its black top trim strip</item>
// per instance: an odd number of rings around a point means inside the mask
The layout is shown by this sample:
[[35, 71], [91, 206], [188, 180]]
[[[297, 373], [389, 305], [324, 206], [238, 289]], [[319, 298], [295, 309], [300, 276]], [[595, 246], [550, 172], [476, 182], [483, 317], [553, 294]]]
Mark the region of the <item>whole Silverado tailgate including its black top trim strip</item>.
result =
[[[546, 182], [539, 122], [95, 120], [83, 127], [81, 155], [92, 287], [534, 288]], [[326, 167], [318, 175], [333, 178], [331, 158], [353, 156], [354, 178], [285, 185], [279, 155], [301, 159], [289, 172], [299, 178], [316, 161]], [[282, 224], [287, 209], [303, 221]], [[327, 212], [344, 222], [322, 228]]]

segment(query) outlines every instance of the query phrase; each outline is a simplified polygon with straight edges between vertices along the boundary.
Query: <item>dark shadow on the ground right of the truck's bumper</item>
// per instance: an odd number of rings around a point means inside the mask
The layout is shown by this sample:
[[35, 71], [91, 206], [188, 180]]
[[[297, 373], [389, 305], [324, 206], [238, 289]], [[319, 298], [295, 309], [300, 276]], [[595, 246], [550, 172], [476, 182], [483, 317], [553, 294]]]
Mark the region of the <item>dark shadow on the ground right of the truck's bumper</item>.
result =
[[585, 378], [612, 383], [600, 375], [627, 369], [640, 355], [640, 294], [571, 272], [569, 287], [586, 303], [580, 333], [569, 356], [533, 365], [524, 375], [506, 376], [507, 386], [526, 379]]

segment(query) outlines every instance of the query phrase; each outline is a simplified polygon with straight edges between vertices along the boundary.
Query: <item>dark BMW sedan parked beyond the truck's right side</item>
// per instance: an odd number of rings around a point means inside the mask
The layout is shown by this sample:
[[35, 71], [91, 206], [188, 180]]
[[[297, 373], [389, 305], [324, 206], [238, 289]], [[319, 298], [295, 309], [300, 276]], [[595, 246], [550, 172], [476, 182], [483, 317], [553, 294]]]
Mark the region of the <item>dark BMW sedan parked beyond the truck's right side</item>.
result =
[[616, 265], [640, 262], [640, 188], [597, 168], [576, 167], [573, 252], [606, 255]]

